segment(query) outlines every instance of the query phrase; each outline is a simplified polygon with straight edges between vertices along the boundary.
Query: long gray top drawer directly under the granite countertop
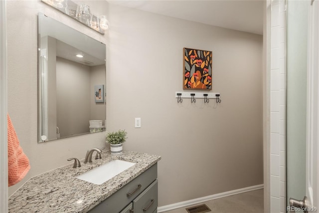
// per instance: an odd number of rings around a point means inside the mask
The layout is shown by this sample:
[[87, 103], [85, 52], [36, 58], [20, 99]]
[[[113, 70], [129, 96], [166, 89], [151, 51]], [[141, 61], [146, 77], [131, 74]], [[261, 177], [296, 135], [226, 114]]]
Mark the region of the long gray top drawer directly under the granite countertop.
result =
[[119, 213], [158, 177], [157, 164], [133, 179], [111, 197], [101, 202], [90, 213]]

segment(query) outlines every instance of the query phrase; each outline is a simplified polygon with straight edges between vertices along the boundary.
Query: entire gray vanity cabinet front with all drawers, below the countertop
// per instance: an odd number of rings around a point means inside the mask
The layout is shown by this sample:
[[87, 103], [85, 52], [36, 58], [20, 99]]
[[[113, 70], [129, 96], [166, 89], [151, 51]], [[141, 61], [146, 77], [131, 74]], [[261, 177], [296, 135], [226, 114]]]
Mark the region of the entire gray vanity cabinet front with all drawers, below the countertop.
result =
[[154, 213], [158, 207], [157, 164], [133, 179], [89, 213]]

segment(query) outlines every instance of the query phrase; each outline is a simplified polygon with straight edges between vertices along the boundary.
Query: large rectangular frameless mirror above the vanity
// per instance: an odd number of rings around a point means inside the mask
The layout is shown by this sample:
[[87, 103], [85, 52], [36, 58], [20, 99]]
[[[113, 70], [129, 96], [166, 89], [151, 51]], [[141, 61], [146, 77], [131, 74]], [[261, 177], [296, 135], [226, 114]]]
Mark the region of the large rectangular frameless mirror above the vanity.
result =
[[105, 58], [104, 43], [38, 14], [39, 142], [105, 130]]

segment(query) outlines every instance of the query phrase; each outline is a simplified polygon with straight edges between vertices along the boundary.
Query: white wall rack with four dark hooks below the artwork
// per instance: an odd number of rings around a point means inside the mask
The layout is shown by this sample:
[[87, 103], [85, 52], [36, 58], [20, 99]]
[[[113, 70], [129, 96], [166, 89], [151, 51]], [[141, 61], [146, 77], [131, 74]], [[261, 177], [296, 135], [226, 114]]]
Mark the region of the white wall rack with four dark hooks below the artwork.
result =
[[204, 103], [209, 103], [209, 99], [216, 99], [216, 103], [220, 103], [219, 99], [220, 93], [216, 92], [175, 92], [175, 98], [177, 98], [177, 103], [183, 101], [182, 98], [190, 98], [191, 103], [196, 103], [196, 99], [203, 98]]

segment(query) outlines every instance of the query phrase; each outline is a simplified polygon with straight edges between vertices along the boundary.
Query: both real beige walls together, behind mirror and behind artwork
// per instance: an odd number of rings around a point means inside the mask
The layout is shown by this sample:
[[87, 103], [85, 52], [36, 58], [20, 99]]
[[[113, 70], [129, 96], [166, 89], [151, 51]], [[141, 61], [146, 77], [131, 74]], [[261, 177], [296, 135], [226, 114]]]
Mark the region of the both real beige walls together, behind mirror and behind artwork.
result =
[[[89, 4], [107, 12], [107, 2]], [[262, 36], [109, 6], [102, 36], [41, 2], [7, 2], [8, 111], [31, 162], [22, 182], [104, 144], [104, 133], [37, 144], [36, 14], [43, 11], [107, 43], [107, 128], [128, 131], [125, 149], [162, 156], [159, 206], [262, 184]], [[212, 92], [222, 103], [177, 104], [183, 47], [213, 51]]]

